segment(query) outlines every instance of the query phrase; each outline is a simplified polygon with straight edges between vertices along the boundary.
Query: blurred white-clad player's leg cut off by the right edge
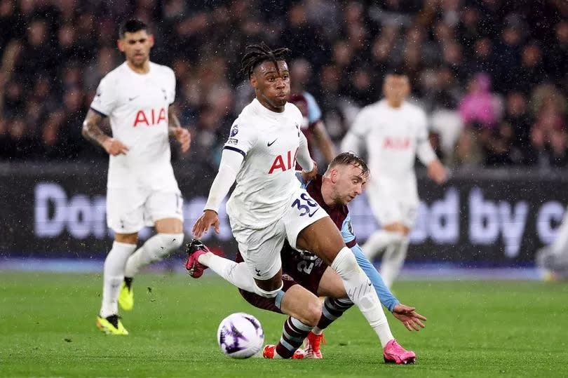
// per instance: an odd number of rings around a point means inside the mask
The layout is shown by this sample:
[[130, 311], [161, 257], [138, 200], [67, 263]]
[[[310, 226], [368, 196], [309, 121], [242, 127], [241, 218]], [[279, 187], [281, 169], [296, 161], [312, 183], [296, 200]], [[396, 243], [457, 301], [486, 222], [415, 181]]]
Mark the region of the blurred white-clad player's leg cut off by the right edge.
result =
[[546, 281], [568, 280], [568, 209], [553, 243], [536, 253], [536, 266]]

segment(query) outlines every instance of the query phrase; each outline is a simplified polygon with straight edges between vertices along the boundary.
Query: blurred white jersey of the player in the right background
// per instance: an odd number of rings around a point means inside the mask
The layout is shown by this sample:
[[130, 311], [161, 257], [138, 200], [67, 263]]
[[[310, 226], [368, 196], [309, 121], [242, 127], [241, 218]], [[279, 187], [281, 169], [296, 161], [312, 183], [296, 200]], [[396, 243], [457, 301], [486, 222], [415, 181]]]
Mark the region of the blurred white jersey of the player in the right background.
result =
[[349, 134], [342, 143], [342, 150], [359, 153], [359, 145], [364, 144], [371, 180], [382, 177], [415, 180], [417, 153], [425, 164], [435, 158], [428, 141], [426, 114], [409, 102], [393, 108], [386, 100], [381, 100], [364, 107]]

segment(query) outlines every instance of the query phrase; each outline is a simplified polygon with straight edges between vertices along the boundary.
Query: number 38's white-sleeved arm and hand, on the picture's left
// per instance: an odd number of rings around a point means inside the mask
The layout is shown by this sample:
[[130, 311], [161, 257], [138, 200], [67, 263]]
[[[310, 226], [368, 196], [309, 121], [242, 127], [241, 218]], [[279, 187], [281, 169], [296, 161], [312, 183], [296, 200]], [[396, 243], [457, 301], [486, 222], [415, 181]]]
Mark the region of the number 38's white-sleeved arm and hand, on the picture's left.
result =
[[243, 163], [243, 155], [230, 149], [223, 150], [219, 172], [217, 172], [217, 176], [211, 184], [211, 189], [209, 189], [205, 209], [191, 230], [195, 238], [201, 239], [201, 236], [207, 234], [211, 226], [215, 227], [215, 232], [219, 234], [219, 217], [217, 216], [219, 206], [233, 186], [236, 175], [241, 169], [241, 163]]

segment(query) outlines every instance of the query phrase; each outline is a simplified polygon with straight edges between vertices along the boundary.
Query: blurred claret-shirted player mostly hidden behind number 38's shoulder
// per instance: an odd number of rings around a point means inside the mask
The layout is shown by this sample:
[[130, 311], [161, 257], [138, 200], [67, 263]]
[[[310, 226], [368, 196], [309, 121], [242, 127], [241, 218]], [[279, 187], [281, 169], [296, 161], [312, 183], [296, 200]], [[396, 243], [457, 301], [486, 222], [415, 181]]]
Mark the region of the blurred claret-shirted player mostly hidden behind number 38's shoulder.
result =
[[330, 135], [325, 130], [321, 110], [316, 99], [304, 90], [310, 74], [311, 66], [307, 60], [297, 59], [290, 63], [290, 102], [295, 104], [304, 116], [300, 129], [308, 140], [311, 156], [313, 156], [313, 147], [317, 147], [327, 166], [336, 155], [335, 147]]

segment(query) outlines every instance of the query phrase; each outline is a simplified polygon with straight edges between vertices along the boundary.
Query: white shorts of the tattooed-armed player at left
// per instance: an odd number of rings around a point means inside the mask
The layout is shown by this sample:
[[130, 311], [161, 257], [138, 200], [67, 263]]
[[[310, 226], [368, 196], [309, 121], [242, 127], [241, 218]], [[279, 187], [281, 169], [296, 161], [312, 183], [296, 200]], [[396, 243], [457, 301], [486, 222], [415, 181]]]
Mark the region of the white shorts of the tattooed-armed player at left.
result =
[[107, 225], [119, 234], [133, 234], [157, 220], [177, 218], [183, 222], [183, 198], [179, 189], [108, 188]]

